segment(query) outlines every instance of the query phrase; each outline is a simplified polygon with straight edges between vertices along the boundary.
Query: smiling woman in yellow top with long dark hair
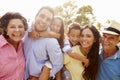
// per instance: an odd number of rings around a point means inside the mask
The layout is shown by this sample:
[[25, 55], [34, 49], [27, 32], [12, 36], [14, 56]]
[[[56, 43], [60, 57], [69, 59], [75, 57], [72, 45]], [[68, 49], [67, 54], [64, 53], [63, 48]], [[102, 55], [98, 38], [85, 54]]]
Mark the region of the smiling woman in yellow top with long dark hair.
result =
[[66, 68], [70, 71], [72, 80], [95, 80], [99, 66], [99, 38], [100, 34], [94, 26], [86, 26], [80, 32], [80, 45], [72, 47], [72, 50], [89, 60], [87, 67], [81, 61], [75, 60], [65, 54], [69, 60]]

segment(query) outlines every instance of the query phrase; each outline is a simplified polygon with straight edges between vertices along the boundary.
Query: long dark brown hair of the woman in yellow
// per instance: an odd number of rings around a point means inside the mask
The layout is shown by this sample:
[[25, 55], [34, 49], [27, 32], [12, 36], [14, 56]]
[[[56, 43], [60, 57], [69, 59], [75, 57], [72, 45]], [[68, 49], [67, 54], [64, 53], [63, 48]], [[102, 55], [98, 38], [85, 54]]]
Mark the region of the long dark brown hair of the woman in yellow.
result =
[[86, 28], [92, 31], [96, 42], [93, 43], [92, 48], [87, 54], [87, 58], [89, 59], [90, 64], [88, 67], [85, 67], [83, 71], [83, 77], [85, 80], [96, 80], [96, 76], [98, 74], [98, 68], [99, 68], [100, 34], [94, 26], [86, 26], [85, 28], [81, 30], [81, 32]]

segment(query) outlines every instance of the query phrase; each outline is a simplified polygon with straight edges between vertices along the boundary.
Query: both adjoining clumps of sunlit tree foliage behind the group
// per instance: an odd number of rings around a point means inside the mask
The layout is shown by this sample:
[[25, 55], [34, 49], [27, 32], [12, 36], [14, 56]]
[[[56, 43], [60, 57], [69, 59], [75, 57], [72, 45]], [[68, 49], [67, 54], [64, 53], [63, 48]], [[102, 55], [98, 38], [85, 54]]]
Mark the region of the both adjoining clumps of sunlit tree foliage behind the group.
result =
[[69, 25], [71, 22], [78, 22], [81, 26], [87, 24], [93, 24], [95, 16], [93, 9], [90, 5], [77, 6], [75, 1], [68, 1], [61, 6], [55, 7], [55, 14], [62, 16], [65, 25]]

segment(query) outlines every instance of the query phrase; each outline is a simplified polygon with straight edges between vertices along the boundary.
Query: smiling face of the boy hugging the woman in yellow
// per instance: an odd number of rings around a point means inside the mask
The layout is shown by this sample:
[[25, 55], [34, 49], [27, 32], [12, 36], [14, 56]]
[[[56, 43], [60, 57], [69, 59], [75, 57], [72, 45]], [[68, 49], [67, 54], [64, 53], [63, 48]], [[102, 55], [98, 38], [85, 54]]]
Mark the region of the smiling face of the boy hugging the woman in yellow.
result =
[[79, 42], [80, 30], [71, 29], [68, 37], [72, 45], [76, 45]]

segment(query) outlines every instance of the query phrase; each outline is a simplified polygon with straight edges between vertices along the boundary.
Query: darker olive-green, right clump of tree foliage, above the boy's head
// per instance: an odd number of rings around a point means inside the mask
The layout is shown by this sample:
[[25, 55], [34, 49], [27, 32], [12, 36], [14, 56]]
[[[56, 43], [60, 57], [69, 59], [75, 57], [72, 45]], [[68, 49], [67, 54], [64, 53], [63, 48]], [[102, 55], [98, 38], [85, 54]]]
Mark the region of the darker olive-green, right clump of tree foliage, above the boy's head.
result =
[[93, 9], [90, 5], [82, 6], [78, 9], [75, 21], [79, 22], [82, 26], [93, 24], [95, 20]]

